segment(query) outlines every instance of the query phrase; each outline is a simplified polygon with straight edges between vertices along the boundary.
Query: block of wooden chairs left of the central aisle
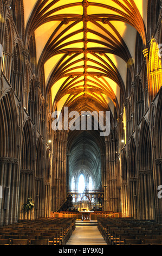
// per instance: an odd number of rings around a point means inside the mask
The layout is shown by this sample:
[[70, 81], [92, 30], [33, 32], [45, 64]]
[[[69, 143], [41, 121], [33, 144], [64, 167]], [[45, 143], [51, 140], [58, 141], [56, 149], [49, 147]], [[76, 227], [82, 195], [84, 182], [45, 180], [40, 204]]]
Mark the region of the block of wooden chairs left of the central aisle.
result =
[[[10, 241], [48, 240], [49, 245], [66, 245], [75, 230], [75, 218], [24, 220], [0, 228], [0, 244]], [[4, 240], [4, 241], [3, 241]], [[27, 241], [26, 241], [27, 242]], [[12, 244], [12, 243], [10, 243]]]

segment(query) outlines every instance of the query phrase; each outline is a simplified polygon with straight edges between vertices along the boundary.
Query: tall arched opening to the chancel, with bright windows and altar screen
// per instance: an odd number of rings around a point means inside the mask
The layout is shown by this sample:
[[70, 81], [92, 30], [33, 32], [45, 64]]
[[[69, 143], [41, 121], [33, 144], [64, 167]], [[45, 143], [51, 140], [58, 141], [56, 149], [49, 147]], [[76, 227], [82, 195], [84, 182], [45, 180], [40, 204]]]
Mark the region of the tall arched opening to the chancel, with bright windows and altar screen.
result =
[[102, 191], [103, 187], [101, 152], [95, 135], [88, 131], [79, 132], [68, 143], [67, 187], [68, 192], [73, 193], [73, 207], [77, 209], [91, 210], [92, 203], [96, 206], [100, 201], [93, 196], [97, 191]]

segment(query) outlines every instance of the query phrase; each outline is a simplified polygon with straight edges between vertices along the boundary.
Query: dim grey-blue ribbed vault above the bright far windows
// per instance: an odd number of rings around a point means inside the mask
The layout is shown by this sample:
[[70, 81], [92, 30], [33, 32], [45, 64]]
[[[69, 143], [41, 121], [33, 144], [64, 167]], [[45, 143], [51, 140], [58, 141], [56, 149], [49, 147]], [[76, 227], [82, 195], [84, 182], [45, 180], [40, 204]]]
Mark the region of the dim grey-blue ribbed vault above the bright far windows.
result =
[[[101, 151], [96, 141], [96, 132], [80, 132], [75, 136], [69, 148], [69, 181], [84, 171], [97, 183], [101, 184]], [[96, 176], [98, 175], [98, 180]], [[70, 184], [69, 184], [70, 185]]]

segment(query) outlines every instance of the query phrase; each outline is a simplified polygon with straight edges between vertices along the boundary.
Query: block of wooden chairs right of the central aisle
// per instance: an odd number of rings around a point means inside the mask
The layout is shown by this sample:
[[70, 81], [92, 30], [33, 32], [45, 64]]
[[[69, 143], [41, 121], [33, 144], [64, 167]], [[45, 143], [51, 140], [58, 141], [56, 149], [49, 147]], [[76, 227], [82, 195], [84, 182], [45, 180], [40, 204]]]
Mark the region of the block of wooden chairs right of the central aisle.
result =
[[[98, 229], [107, 245], [161, 244], [162, 225], [155, 221], [132, 218], [98, 218]], [[149, 241], [148, 241], [149, 239]], [[131, 241], [128, 241], [131, 240]]]

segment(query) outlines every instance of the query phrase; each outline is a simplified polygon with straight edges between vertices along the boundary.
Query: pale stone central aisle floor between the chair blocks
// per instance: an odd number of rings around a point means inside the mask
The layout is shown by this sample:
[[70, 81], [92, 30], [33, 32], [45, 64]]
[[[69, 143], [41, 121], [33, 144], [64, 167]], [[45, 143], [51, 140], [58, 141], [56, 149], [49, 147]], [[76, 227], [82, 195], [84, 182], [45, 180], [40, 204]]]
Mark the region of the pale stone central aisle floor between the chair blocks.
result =
[[77, 225], [66, 245], [107, 245], [97, 225]]

